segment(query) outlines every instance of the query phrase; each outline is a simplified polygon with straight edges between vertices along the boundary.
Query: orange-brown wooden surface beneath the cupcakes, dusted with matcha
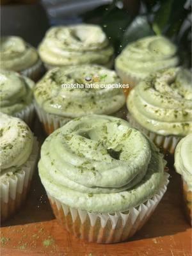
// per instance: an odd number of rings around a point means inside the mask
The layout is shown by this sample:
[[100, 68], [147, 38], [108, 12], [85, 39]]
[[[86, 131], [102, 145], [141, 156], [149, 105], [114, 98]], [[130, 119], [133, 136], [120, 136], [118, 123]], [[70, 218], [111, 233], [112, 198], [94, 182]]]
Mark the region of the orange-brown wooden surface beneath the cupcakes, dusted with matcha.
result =
[[36, 173], [26, 203], [1, 227], [1, 255], [191, 256], [180, 176], [173, 170], [170, 175], [168, 191], [140, 232], [125, 243], [93, 244], [70, 236], [58, 225]]

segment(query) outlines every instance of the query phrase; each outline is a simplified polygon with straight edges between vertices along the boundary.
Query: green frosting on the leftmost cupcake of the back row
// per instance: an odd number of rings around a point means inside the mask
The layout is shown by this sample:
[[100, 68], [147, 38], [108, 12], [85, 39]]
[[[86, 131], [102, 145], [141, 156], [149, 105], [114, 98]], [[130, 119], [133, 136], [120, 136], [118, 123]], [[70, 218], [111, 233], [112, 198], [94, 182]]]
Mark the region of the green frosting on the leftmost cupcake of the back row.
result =
[[23, 71], [35, 65], [38, 53], [31, 45], [19, 36], [1, 37], [1, 68]]

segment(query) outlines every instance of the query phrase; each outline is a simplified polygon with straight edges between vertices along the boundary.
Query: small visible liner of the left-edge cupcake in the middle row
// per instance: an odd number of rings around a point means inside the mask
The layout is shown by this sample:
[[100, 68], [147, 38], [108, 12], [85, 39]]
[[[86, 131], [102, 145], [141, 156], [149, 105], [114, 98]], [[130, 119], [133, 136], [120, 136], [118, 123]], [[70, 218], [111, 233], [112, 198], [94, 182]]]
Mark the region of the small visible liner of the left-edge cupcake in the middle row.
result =
[[26, 124], [31, 126], [31, 124], [33, 122], [34, 115], [35, 115], [35, 107], [34, 107], [34, 104], [31, 103], [29, 106], [26, 106], [26, 108], [15, 113], [13, 116], [24, 120], [24, 122], [26, 122]]

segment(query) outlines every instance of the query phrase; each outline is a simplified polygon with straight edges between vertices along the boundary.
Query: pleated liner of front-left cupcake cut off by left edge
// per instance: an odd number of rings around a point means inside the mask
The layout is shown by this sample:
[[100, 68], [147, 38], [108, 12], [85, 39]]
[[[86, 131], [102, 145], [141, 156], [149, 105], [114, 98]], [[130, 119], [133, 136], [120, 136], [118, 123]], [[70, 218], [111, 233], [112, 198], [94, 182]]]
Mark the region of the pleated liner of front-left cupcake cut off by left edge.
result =
[[1, 221], [12, 215], [26, 198], [38, 159], [38, 141], [34, 138], [33, 150], [21, 170], [1, 180]]

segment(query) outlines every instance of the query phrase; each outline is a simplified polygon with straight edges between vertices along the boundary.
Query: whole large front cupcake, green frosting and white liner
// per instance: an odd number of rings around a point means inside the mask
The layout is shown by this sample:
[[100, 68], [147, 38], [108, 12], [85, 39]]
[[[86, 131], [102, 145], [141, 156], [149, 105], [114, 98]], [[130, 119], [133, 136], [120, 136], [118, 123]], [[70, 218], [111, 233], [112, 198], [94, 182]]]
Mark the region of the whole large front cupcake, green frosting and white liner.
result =
[[114, 116], [83, 116], [54, 131], [42, 145], [38, 169], [61, 225], [97, 243], [131, 237], [168, 184], [163, 155]]

